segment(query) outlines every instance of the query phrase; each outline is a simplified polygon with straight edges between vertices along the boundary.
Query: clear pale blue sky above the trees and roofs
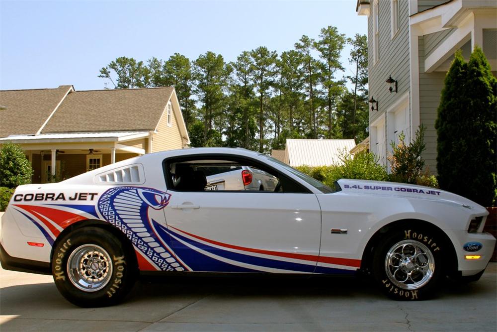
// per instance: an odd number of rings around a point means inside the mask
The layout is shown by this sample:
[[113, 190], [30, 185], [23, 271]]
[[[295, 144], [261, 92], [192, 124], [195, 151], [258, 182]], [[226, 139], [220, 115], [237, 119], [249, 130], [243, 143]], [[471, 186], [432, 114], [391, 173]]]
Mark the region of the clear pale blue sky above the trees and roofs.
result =
[[[103, 89], [99, 69], [119, 56], [144, 62], [212, 51], [234, 61], [266, 46], [278, 54], [303, 34], [333, 25], [367, 33], [356, 0], [4, 1], [0, 0], [0, 90]], [[348, 65], [349, 49], [342, 54]]]

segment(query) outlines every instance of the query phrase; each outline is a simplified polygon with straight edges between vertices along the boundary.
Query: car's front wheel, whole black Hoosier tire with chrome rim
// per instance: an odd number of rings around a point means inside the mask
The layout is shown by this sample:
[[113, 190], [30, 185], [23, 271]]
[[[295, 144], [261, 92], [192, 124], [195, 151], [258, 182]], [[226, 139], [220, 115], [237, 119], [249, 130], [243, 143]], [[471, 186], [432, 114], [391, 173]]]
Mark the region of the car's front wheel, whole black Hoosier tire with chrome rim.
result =
[[392, 230], [373, 254], [373, 277], [394, 300], [428, 299], [443, 275], [443, 249], [439, 235], [429, 229]]

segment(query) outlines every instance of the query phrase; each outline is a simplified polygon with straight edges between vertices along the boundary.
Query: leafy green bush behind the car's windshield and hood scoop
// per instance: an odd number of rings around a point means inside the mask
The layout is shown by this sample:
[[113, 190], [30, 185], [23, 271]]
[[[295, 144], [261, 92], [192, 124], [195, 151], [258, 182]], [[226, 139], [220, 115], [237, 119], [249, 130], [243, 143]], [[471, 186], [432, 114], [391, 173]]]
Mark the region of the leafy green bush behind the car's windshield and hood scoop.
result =
[[304, 165], [296, 169], [330, 187], [339, 179], [388, 180], [385, 166], [378, 164], [378, 158], [374, 153], [361, 151], [351, 156], [344, 151], [340, 155], [340, 160], [343, 165], [319, 167]]

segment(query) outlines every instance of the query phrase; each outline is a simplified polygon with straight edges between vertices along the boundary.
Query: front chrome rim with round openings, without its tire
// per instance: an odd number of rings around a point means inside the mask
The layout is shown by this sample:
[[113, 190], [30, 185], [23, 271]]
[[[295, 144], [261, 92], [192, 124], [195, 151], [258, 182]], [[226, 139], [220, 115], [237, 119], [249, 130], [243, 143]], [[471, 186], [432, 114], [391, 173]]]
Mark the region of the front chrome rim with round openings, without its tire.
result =
[[426, 285], [435, 271], [435, 259], [427, 246], [414, 240], [394, 244], [385, 258], [388, 278], [403, 289]]

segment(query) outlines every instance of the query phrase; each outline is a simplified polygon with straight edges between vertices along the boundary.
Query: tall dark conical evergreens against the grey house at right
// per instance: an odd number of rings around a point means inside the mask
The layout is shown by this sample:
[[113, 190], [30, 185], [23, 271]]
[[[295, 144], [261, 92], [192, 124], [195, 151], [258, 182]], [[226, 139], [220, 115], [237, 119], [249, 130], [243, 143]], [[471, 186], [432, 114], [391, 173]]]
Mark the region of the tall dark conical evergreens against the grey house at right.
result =
[[460, 51], [445, 78], [437, 129], [437, 170], [441, 189], [483, 206], [495, 204], [497, 79], [479, 47], [469, 63]]

